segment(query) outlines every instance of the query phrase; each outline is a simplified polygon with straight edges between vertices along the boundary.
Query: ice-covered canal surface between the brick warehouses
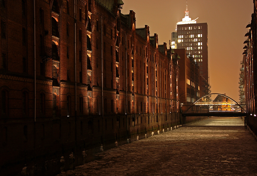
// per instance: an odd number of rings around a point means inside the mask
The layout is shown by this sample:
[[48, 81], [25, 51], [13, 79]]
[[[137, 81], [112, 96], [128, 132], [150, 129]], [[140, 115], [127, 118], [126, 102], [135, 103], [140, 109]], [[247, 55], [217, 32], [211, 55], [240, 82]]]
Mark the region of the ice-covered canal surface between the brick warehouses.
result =
[[257, 175], [257, 142], [241, 118], [210, 118], [121, 145], [59, 175]]

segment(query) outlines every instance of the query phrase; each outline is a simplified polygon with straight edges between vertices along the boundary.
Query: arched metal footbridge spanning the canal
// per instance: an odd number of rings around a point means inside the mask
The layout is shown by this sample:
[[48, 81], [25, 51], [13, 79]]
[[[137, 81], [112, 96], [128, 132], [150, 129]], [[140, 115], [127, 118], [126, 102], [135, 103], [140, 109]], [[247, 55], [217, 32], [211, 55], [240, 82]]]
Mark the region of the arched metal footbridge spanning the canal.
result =
[[182, 116], [246, 116], [245, 104], [225, 94], [204, 95], [194, 103], [181, 103]]

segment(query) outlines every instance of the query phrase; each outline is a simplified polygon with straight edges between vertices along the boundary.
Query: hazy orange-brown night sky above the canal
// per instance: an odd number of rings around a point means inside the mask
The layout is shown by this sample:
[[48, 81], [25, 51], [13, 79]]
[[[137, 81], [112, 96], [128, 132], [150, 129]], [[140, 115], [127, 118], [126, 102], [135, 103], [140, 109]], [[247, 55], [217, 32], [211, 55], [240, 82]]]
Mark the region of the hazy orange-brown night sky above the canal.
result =
[[[150, 27], [158, 43], [169, 44], [176, 24], [182, 21], [186, 0], [122, 0], [121, 13], [136, 14], [136, 28]], [[156, 3], [158, 2], [158, 3]], [[211, 93], [239, 99], [239, 69], [243, 59], [246, 25], [251, 22], [252, 0], [187, 0], [189, 17], [208, 24], [208, 60]], [[168, 45], [167, 45], [168, 46]]]

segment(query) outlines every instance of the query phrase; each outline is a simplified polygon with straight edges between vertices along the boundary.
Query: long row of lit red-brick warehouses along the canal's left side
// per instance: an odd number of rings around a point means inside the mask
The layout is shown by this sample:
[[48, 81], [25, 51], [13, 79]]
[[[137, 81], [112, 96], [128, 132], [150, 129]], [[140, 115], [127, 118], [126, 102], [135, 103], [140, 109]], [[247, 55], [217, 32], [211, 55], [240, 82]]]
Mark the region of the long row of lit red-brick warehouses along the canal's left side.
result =
[[55, 175], [186, 123], [178, 55], [122, 5], [1, 0], [1, 175]]

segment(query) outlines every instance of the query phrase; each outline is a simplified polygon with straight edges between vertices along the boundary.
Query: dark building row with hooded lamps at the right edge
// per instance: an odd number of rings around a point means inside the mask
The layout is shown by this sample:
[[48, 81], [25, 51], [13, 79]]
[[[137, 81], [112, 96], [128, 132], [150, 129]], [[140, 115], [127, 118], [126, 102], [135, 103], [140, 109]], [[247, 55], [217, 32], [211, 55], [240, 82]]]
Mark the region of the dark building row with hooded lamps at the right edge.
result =
[[[245, 99], [246, 101], [246, 111], [248, 116], [246, 117], [246, 125], [251, 128], [255, 135], [257, 135], [257, 1], [253, 1], [253, 14], [252, 14], [251, 23], [249, 23], [246, 28], [249, 31], [245, 34], [246, 40], [243, 42], [245, 44], [243, 55], [243, 75], [244, 78], [240, 79], [239, 86], [242, 86], [241, 83], [244, 83], [242, 89], [244, 88], [244, 97], [243, 92], [240, 92], [240, 99]], [[241, 72], [242, 73], [242, 72]], [[241, 74], [242, 75], [242, 74]], [[240, 76], [241, 76], [240, 75]], [[241, 78], [241, 77], [240, 77]], [[242, 80], [242, 82], [241, 82]]]

